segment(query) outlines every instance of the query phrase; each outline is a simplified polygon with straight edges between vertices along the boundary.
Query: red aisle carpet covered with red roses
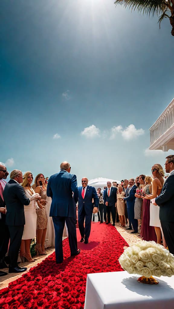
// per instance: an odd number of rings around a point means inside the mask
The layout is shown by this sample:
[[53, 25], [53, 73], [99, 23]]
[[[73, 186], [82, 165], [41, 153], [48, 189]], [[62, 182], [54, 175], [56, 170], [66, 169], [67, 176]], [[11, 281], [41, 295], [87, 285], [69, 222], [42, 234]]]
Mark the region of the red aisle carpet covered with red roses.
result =
[[[77, 240], [80, 240], [77, 230]], [[84, 308], [88, 273], [120, 271], [118, 258], [125, 240], [114, 226], [92, 223], [89, 244], [78, 242], [81, 252], [70, 257], [68, 239], [63, 241], [64, 261], [55, 264], [55, 253], [30, 269], [8, 288], [0, 290], [3, 309]]]

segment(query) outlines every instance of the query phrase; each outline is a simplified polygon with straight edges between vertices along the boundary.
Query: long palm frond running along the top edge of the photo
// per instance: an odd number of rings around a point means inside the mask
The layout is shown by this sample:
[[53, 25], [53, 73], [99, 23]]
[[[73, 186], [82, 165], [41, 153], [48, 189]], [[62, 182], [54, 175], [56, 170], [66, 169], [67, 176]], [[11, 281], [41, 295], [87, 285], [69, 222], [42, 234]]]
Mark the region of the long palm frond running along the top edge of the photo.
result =
[[165, 0], [115, 0], [115, 6], [124, 6], [132, 11], [146, 15], [159, 15], [167, 9], [167, 1]]

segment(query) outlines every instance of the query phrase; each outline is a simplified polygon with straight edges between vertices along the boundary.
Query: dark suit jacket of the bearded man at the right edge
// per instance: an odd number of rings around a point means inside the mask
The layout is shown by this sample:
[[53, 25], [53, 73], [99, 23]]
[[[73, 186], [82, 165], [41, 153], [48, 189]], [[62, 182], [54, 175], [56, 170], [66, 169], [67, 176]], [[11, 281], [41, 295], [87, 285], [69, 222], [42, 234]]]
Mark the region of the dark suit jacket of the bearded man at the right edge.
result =
[[174, 222], [174, 173], [167, 177], [155, 202], [159, 206], [159, 219]]

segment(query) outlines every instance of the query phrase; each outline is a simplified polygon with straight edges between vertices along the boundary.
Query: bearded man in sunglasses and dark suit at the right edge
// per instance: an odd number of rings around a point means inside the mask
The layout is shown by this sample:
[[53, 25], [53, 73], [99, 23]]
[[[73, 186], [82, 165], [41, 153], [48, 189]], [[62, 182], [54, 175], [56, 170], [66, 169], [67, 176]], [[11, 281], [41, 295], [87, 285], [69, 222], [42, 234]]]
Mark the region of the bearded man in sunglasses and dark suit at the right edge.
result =
[[165, 181], [161, 194], [152, 200], [159, 206], [159, 219], [169, 252], [174, 254], [174, 155], [166, 157], [166, 173], [170, 173]]

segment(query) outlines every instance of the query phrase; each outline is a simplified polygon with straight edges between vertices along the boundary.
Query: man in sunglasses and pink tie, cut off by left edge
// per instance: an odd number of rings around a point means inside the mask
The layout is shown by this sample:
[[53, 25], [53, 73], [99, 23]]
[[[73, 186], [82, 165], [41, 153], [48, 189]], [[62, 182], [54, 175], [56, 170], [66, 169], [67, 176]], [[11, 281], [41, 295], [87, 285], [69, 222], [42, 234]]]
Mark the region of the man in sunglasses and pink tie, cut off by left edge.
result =
[[[8, 249], [10, 239], [8, 227], [5, 224], [6, 208], [3, 197], [5, 182], [2, 180], [6, 178], [7, 168], [0, 164], [0, 269], [6, 268], [5, 255]], [[7, 275], [6, 272], [0, 271], [0, 277]]]

